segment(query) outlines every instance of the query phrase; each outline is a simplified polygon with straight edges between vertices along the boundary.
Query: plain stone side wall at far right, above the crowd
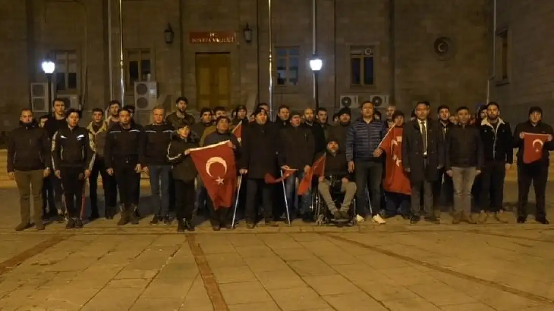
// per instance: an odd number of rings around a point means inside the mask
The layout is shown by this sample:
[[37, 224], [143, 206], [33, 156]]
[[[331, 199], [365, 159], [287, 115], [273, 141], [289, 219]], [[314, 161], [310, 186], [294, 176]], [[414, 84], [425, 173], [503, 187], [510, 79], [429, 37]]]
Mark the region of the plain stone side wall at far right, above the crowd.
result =
[[554, 122], [552, 28], [554, 2], [497, 0], [496, 30], [507, 30], [508, 35], [508, 78], [500, 76], [501, 48], [496, 44], [491, 99], [501, 104], [502, 117], [512, 123], [525, 121], [531, 106], [541, 106], [543, 118]]

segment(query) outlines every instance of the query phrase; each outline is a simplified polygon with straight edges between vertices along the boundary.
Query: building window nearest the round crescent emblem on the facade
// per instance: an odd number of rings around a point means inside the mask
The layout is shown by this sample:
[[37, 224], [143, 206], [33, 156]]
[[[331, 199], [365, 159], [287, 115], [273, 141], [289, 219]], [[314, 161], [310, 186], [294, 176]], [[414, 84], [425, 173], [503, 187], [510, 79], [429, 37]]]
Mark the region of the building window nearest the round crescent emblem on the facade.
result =
[[350, 50], [350, 84], [375, 85], [375, 47], [358, 47]]

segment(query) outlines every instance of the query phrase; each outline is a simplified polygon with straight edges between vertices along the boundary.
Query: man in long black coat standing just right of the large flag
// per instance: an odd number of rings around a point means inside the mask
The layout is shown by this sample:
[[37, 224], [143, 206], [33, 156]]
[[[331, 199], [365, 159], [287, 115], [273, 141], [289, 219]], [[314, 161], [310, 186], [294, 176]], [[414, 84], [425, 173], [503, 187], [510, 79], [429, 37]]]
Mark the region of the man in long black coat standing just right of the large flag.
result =
[[278, 226], [273, 220], [273, 185], [265, 183], [265, 175], [275, 176], [275, 163], [278, 133], [268, 124], [268, 114], [263, 108], [254, 111], [255, 122], [249, 124], [243, 132], [242, 151], [239, 159], [240, 175], [247, 175], [247, 198], [245, 218], [247, 227], [253, 229], [257, 218], [257, 194], [261, 192], [265, 224]]

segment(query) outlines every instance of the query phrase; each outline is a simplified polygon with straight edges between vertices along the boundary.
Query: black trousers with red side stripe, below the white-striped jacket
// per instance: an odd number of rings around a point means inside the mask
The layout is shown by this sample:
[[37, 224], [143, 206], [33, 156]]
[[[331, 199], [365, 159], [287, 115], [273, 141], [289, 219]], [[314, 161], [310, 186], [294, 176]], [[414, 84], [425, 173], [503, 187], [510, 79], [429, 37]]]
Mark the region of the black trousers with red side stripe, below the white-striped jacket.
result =
[[64, 187], [65, 208], [70, 218], [80, 218], [83, 213], [85, 170], [81, 167], [61, 167], [61, 186]]

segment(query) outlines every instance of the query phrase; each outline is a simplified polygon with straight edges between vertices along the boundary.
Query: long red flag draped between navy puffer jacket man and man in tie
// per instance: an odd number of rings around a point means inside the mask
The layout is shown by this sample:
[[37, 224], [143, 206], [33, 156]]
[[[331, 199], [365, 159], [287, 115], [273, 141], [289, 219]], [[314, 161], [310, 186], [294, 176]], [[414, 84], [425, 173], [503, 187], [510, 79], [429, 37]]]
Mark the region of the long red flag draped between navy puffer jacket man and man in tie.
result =
[[379, 144], [379, 148], [387, 155], [383, 189], [394, 193], [412, 194], [410, 181], [402, 167], [403, 131], [403, 128], [393, 126]]

